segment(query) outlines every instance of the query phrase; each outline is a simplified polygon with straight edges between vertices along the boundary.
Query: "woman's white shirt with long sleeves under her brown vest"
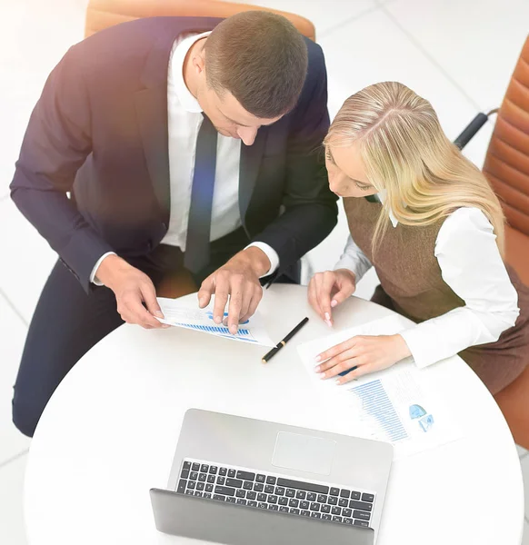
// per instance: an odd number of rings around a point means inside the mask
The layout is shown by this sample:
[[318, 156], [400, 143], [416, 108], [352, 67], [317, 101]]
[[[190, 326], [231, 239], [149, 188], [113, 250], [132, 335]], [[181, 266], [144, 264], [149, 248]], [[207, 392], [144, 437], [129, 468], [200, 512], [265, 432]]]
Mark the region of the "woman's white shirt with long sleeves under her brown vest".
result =
[[[390, 219], [395, 227], [396, 220]], [[481, 210], [459, 208], [448, 216], [437, 233], [434, 255], [444, 282], [465, 304], [400, 333], [420, 368], [469, 346], [497, 341], [520, 312], [493, 226]], [[371, 266], [349, 236], [334, 269], [353, 271], [358, 282]]]

